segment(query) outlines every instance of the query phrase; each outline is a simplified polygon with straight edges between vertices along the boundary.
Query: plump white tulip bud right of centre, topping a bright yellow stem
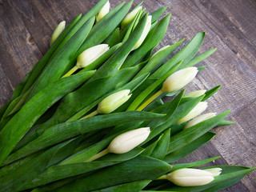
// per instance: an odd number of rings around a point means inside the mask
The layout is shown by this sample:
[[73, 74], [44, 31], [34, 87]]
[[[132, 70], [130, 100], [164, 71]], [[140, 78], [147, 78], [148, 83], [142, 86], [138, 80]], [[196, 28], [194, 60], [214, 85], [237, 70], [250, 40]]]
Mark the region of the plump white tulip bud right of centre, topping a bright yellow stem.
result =
[[196, 74], [198, 74], [198, 68], [194, 66], [178, 70], [174, 74], [171, 74], [169, 78], [166, 78], [166, 81], [162, 85], [162, 91], [169, 93], [180, 90], [190, 83]]

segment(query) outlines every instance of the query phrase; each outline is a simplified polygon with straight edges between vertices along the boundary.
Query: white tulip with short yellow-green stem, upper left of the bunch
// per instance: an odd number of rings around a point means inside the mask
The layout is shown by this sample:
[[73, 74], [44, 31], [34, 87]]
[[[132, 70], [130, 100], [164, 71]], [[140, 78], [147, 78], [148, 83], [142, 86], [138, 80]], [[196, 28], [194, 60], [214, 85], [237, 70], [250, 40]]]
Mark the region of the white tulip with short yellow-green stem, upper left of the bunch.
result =
[[100, 44], [98, 46], [92, 46], [89, 49], [84, 50], [82, 54], [79, 54], [77, 59], [77, 64], [69, 72], [67, 72], [62, 78], [70, 76], [70, 74], [73, 74], [78, 69], [89, 66], [97, 58], [102, 56], [102, 54], [105, 54], [106, 51], [109, 49], [110, 49], [109, 45]]

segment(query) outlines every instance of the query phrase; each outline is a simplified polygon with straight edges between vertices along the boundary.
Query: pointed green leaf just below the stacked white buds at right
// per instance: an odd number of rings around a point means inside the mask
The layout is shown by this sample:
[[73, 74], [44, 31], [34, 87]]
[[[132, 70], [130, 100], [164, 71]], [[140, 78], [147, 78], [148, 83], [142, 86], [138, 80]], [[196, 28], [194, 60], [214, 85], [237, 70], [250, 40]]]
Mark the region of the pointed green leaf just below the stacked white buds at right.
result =
[[195, 139], [199, 138], [203, 134], [206, 134], [207, 131], [214, 128], [214, 126], [217, 126], [218, 122], [221, 122], [224, 118], [226, 118], [226, 115], [229, 113], [230, 111], [227, 110], [222, 114], [218, 114], [217, 116], [209, 118], [206, 121], [199, 122], [198, 124], [191, 126], [189, 129], [182, 130], [178, 134], [172, 136], [170, 138], [168, 154], [170, 154], [174, 150], [178, 150], [182, 146], [186, 146], [187, 144], [193, 142]]

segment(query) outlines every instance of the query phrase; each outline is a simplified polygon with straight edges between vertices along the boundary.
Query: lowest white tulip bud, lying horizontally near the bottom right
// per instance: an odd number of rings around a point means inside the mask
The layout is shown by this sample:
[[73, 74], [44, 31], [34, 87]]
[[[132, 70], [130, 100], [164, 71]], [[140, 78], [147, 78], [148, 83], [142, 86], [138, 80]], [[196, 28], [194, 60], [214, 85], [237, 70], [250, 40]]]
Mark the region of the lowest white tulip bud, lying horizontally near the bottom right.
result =
[[214, 181], [214, 175], [206, 170], [181, 169], [167, 174], [167, 179], [177, 186], [203, 186]]

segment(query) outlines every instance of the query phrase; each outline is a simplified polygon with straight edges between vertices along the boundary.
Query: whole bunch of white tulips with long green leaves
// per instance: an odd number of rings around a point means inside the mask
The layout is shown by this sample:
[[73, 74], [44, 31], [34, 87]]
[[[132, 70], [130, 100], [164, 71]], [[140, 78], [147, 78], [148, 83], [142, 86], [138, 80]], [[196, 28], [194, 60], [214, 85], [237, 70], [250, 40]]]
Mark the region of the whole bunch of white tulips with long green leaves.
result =
[[184, 39], [154, 51], [166, 7], [131, 6], [100, 0], [54, 30], [0, 110], [0, 191], [216, 191], [254, 170], [175, 163], [233, 123], [229, 111], [202, 114], [220, 86], [184, 94], [216, 49], [195, 57], [200, 32], [168, 59]]

